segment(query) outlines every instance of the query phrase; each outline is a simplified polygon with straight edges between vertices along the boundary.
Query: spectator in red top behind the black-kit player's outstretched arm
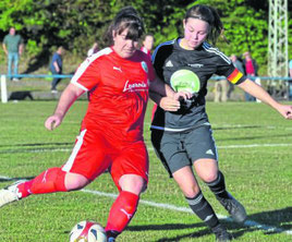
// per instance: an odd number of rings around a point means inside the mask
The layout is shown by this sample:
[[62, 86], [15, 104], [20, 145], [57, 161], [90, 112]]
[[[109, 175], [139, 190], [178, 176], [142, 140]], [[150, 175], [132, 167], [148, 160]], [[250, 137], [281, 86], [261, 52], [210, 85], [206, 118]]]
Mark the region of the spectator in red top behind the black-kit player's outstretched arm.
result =
[[[254, 77], [257, 76], [258, 64], [256, 63], [255, 59], [252, 58], [248, 51], [244, 52], [243, 57], [243, 68], [245, 71], [245, 75], [254, 82]], [[255, 97], [245, 92], [245, 100], [255, 101], [256, 99]]]

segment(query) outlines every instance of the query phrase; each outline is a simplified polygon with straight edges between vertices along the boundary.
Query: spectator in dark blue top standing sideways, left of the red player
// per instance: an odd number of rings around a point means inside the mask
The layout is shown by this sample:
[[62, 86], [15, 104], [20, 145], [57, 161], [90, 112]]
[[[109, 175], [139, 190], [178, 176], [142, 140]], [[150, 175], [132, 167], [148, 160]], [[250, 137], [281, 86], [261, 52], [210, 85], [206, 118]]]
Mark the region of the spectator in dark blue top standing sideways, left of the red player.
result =
[[[64, 48], [62, 46], [58, 47], [57, 51], [53, 53], [51, 63], [50, 63], [50, 71], [53, 75], [61, 75], [63, 71], [63, 59], [62, 56], [64, 53]], [[53, 77], [51, 82], [51, 93], [57, 94], [57, 85], [61, 81], [60, 77]]]

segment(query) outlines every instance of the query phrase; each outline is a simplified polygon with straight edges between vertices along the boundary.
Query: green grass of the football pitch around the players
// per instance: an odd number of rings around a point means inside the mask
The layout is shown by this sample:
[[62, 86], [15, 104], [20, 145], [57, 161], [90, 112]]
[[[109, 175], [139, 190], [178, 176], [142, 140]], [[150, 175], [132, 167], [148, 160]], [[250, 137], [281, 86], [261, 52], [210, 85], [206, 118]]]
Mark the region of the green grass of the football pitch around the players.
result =
[[[0, 176], [15, 180], [31, 178], [49, 167], [61, 166], [68, 159], [87, 102], [74, 104], [62, 125], [48, 132], [44, 121], [52, 113], [56, 104], [0, 104]], [[209, 102], [207, 110], [227, 186], [245, 205], [248, 220], [290, 230], [291, 233], [292, 122], [263, 104]], [[149, 141], [149, 117], [148, 109], [145, 140], [150, 156], [150, 177], [142, 199], [187, 208], [182, 193], [154, 154]], [[56, 152], [57, 148], [64, 150]], [[11, 182], [0, 177], [1, 187]], [[206, 185], [202, 184], [202, 189], [216, 213], [227, 215]], [[108, 173], [86, 190], [118, 192]], [[1, 208], [0, 241], [68, 241], [69, 231], [77, 221], [90, 219], [105, 226], [112, 202], [110, 197], [81, 191], [31, 196]], [[239, 226], [226, 220], [222, 222], [236, 241], [292, 241], [292, 234], [284, 232]], [[118, 241], [209, 242], [215, 241], [215, 237], [192, 214], [139, 204], [135, 217]]]

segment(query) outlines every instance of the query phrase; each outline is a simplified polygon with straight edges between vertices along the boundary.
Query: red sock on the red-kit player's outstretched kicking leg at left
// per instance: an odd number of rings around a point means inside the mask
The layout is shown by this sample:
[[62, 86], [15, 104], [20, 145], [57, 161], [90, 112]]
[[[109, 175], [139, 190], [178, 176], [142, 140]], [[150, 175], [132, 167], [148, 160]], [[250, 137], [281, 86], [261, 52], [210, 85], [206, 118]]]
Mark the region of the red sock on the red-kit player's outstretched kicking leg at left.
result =
[[61, 168], [50, 168], [33, 180], [17, 185], [19, 192], [22, 193], [22, 198], [31, 194], [66, 192], [65, 173]]

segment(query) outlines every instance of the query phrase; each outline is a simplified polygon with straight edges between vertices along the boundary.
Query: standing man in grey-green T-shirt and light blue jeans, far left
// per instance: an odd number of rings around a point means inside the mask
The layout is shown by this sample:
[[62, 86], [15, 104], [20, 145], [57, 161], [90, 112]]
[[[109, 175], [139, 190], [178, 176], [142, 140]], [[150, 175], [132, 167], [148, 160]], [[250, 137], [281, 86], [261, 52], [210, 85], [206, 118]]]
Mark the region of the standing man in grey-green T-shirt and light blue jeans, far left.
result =
[[[9, 34], [4, 36], [2, 47], [8, 57], [8, 75], [12, 76], [12, 63], [14, 65], [13, 75], [17, 75], [20, 56], [23, 52], [23, 38], [21, 35], [16, 35], [14, 27], [11, 27]], [[19, 81], [17, 77], [11, 77], [11, 80]]]

